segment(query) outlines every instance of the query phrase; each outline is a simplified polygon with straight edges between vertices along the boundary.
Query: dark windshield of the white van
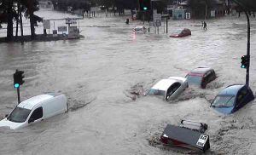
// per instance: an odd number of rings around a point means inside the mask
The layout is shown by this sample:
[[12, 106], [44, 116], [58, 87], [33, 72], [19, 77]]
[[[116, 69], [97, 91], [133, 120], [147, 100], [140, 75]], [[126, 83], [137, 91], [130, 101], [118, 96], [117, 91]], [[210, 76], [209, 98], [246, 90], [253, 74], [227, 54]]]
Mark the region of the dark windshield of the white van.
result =
[[26, 121], [26, 118], [30, 112], [31, 110], [16, 106], [13, 112], [9, 114], [7, 119], [11, 122], [22, 123]]

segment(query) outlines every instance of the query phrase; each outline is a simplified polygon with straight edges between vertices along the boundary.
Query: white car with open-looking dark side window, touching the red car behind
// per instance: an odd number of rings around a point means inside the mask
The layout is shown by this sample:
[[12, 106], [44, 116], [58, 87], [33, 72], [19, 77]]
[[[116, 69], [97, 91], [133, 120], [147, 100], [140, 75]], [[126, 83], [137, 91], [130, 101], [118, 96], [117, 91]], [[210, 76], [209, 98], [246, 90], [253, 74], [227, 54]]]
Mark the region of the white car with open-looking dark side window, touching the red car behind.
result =
[[186, 78], [170, 77], [154, 84], [154, 86], [149, 89], [148, 95], [160, 95], [165, 100], [173, 100], [187, 88], [188, 82]]

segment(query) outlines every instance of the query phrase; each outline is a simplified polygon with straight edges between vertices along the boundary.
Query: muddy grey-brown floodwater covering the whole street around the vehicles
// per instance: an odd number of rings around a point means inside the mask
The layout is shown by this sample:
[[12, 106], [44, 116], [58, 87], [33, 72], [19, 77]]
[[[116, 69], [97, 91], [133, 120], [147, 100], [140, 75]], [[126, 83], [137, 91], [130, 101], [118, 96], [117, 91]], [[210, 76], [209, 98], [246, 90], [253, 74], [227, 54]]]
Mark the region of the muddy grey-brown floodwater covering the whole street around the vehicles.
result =
[[[45, 18], [52, 11], [41, 12]], [[246, 55], [247, 25], [242, 16], [207, 20], [169, 20], [169, 33], [150, 27], [147, 34], [133, 34], [142, 25], [127, 17], [79, 20], [79, 40], [1, 43], [0, 118], [11, 112], [17, 97], [15, 69], [25, 71], [21, 100], [44, 92], [67, 95], [70, 112], [15, 131], [0, 129], [0, 154], [184, 154], [149, 145], [167, 123], [181, 119], [207, 123], [211, 149], [207, 154], [256, 152], [256, 104], [248, 103], [225, 116], [210, 101], [226, 86], [245, 83], [241, 55]], [[145, 23], [148, 26], [148, 23]], [[42, 27], [38, 27], [38, 29]], [[190, 37], [171, 38], [177, 29], [189, 28]], [[2, 31], [2, 30], [0, 30]], [[3, 32], [0, 33], [1, 35]], [[256, 90], [256, 20], [251, 23], [250, 87]], [[143, 92], [162, 78], [184, 77], [198, 66], [210, 66], [218, 78], [207, 89], [189, 88], [170, 103]], [[141, 92], [140, 95], [132, 94]]]

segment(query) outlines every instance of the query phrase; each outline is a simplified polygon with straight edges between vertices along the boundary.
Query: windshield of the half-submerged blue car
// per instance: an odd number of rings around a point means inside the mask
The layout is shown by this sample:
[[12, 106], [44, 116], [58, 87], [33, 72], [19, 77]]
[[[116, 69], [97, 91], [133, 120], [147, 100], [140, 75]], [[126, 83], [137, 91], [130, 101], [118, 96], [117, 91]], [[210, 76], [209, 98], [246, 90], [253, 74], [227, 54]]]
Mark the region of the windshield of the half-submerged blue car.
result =
[[234, 101], [236, 97], [235, 96], [223, 96], [218, 95], [213, 101], [212, 106], [213, 107], [231, 107], [234, 106]]

